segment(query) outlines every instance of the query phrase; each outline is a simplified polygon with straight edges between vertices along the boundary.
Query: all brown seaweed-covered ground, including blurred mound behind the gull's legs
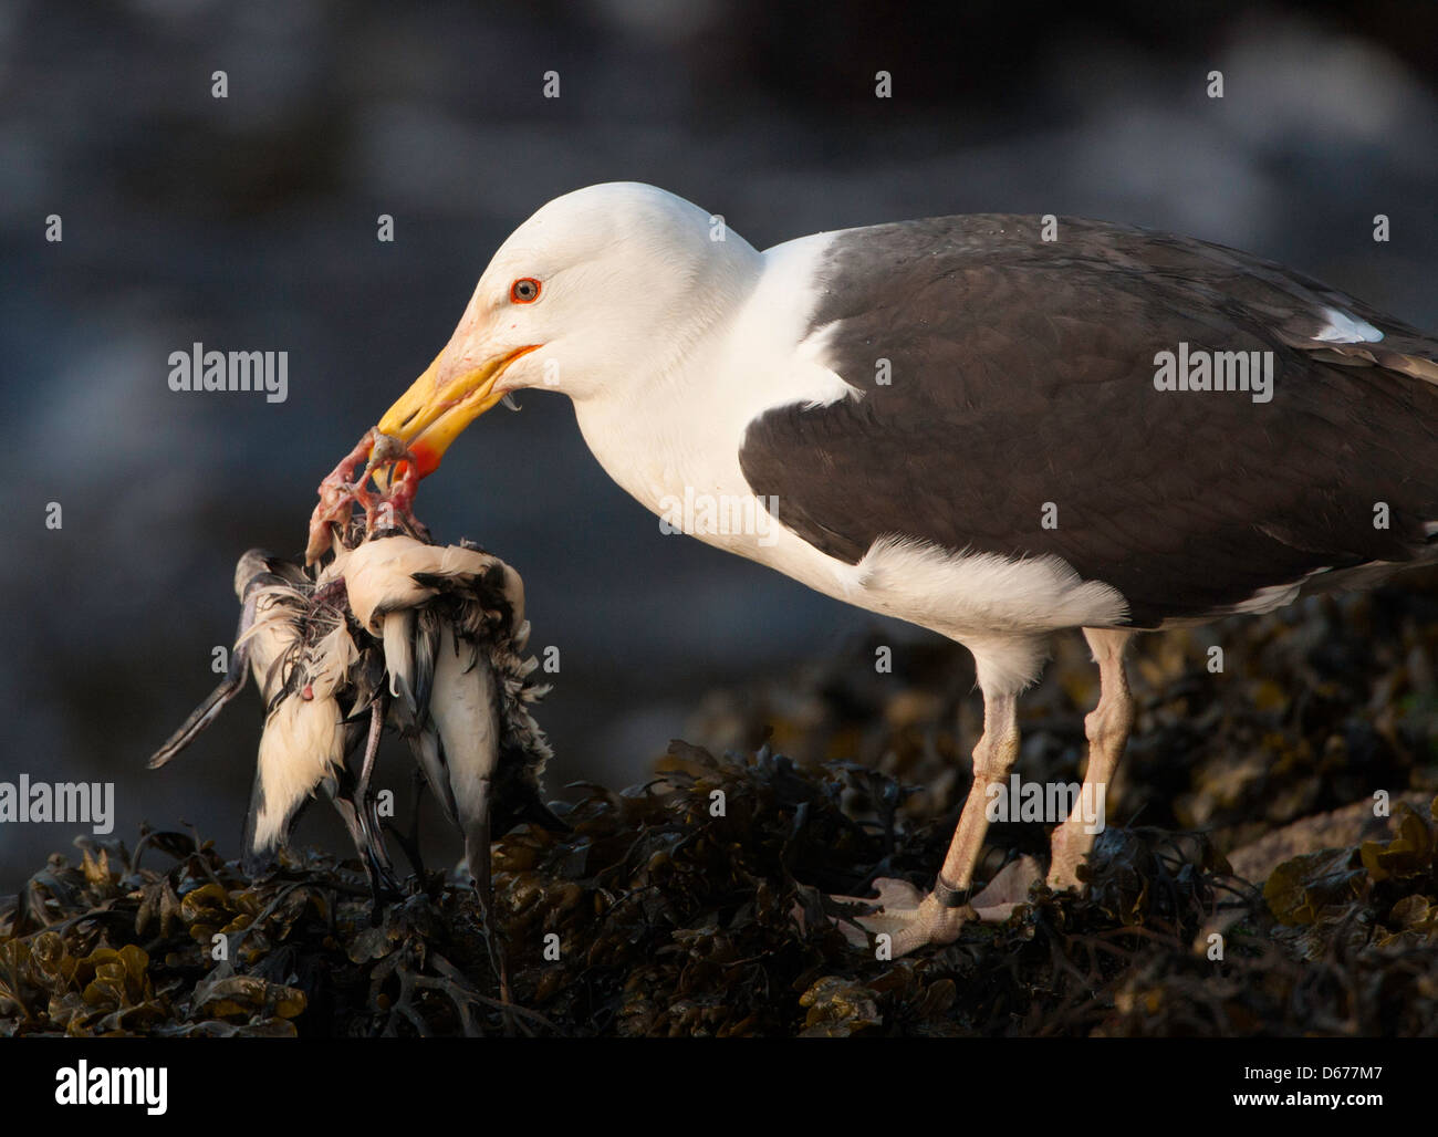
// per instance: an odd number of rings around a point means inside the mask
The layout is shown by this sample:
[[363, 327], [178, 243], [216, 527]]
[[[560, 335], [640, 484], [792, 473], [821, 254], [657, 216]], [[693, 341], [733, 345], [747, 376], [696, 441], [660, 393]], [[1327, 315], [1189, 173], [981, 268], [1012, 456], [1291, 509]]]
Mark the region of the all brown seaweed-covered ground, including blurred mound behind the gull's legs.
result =
[[[569, 831], [498, 841], [487, 920], [441, 875], [375, 913], [354, 861], [250, 880], [193, 835], [83, 839], [0, 898], [0, 1034], [1435, 1031], [1438, 574], [1140, 640], [1087, 891], [1034, 884], [896, 962], [846, 942], [861, 906], [833, 896], [929, 884], [979, 724], [962, 651], [879, 670], [876, 643], [710, 697], [651, 781], [580, 785]], [[1060, 638], [1025, 779], [1078, 779], [1093, 694]], [[979, 877], [1045, 848], [994, 825]]]

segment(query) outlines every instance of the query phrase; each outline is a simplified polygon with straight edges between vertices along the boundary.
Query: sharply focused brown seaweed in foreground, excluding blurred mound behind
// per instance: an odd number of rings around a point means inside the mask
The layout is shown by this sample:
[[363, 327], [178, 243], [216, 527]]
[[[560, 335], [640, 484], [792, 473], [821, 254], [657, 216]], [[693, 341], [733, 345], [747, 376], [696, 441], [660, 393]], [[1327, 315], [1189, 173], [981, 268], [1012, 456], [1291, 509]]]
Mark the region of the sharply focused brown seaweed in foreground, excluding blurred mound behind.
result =
[[[571, 832], [496, 847], [495, 911], [433, 877], [371, 911], [355, 862], [250, 881], [209, 842], [83, 842], [0, 904], [0, 1034], [1288, 1035], [1438, 1021], [1438, 822], [1280, 864], [1267, 893], [1202, 835], [1110, 827], [1084, 896], [890, 962], [833, 917], [922, 880], [943, 819], [899, 782], [672, 746], [584, 788]], [[853, 802], [864, 802], [861, 812]]]

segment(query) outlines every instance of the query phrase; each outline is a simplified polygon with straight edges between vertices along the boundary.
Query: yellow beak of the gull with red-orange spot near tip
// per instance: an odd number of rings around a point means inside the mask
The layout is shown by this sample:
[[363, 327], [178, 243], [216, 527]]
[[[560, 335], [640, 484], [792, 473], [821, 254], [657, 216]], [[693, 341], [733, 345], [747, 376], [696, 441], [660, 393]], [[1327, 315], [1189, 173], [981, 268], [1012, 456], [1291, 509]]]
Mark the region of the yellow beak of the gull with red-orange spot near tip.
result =
[[503, 391], [495, 390], [505, 368], [538, 346], [516, 348], [472, 369], [447, 367], [446, 352], [441, 351], [384, 413], [378, 431], [404, 443], [418, 464], [416, 473], [427, 477], [439, 469], [444, 451], [464, 427], [505, 397]]

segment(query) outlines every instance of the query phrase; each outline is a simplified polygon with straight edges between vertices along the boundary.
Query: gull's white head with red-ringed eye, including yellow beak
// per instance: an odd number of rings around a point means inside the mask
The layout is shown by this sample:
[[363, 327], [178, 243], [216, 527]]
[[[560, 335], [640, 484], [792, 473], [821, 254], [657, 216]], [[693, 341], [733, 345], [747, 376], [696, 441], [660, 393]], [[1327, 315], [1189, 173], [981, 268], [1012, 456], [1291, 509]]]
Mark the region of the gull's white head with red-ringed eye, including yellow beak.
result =
[[742, 303], [759, 263], [720, 218], [653, 185], [557, 197], [495, 253], [450, 342], [378, 428], [423, 477], [510, 391], [641, 398]]

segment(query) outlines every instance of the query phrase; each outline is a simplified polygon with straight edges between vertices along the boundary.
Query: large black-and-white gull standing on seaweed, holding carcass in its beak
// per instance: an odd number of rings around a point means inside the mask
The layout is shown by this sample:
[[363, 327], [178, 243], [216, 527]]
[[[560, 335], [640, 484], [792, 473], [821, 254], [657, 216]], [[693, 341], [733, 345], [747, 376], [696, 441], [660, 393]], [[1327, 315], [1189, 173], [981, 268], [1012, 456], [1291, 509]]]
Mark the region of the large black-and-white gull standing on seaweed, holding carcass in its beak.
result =
[[[974, 653], [984, 735], [953, 844], [930, 893], [880, 881], [867, 921], [894, 954], [972, 914], [986, 791], [1053, 632], [1081, 628], [1100, 670], [1091, 789], [1133, 723], [1136, 630], [1438, 553], [1438, 342], [1129, 226], [959, 216], [759, 252], [663, 190], [594, 185], [503, 243], [378, 431], [423, 477], [521, 388], [568, 395], [649, 509], [699, 502], [677, 513], [702, 540]], [[1091, 841], [1058, 825], [1054, 887]]]

